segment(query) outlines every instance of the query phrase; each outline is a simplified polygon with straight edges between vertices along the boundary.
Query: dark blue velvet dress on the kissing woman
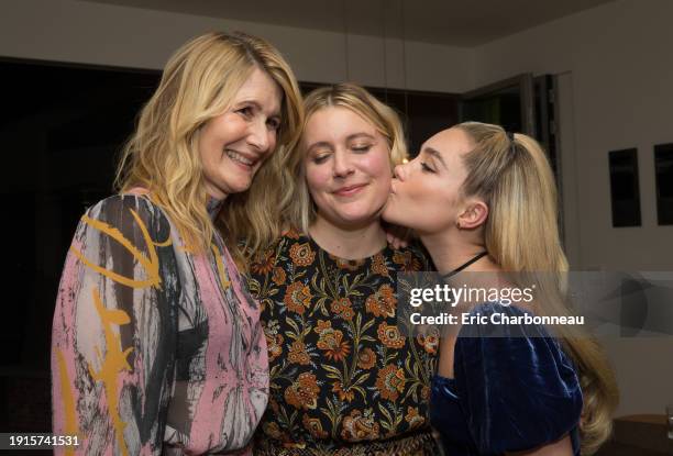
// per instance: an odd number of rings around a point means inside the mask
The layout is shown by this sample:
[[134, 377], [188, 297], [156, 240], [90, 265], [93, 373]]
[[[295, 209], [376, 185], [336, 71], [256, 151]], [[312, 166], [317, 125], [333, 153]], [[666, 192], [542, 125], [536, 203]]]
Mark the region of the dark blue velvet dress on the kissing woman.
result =
[[[485, 303], [476, 313], [526, 312]], [[543, 326], [463, 325], [454, 378], [432, 379], [430, 419], [448, 456], [503, 455], [566, 434], [578, 456], [582, 404], [575, 367]]]

